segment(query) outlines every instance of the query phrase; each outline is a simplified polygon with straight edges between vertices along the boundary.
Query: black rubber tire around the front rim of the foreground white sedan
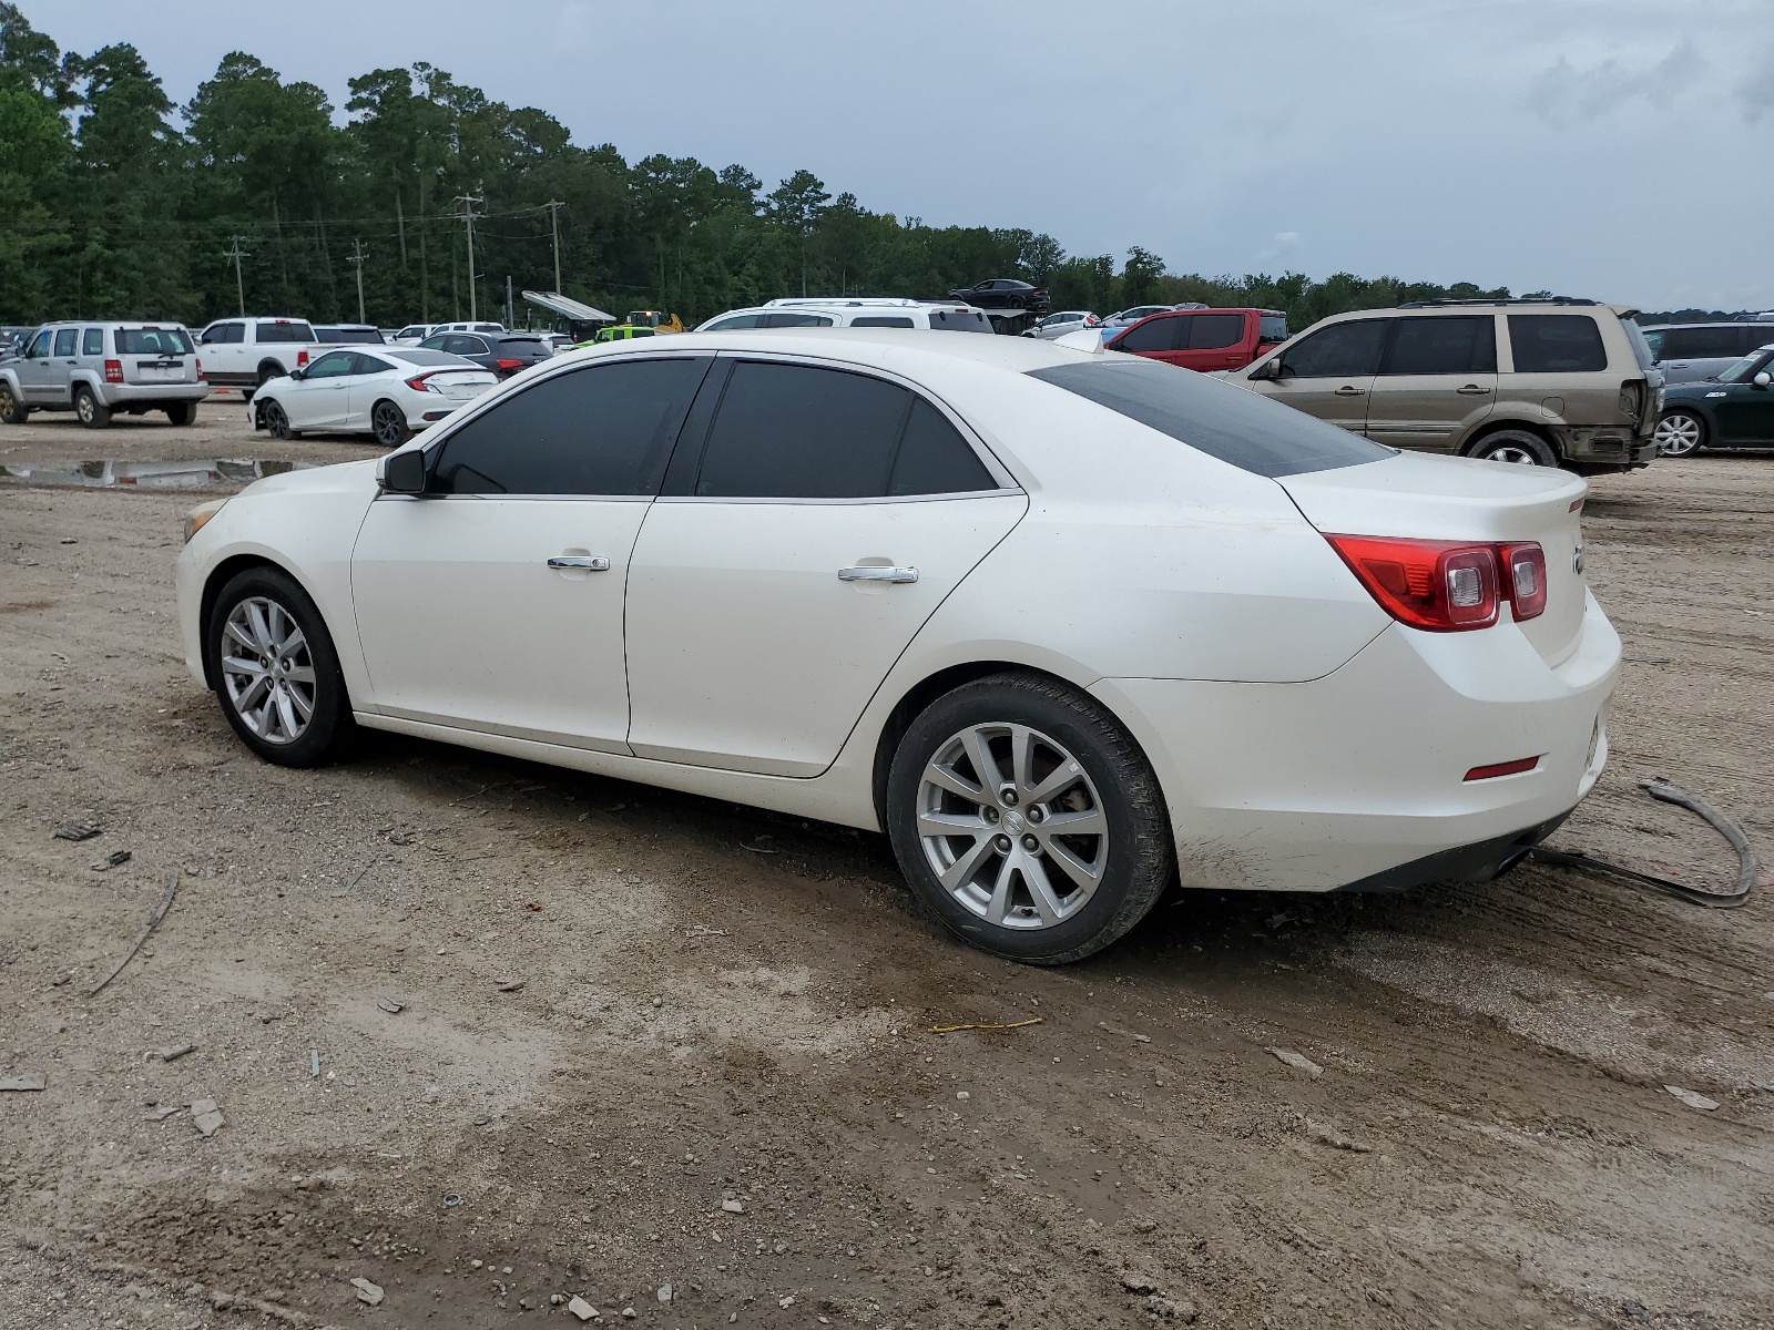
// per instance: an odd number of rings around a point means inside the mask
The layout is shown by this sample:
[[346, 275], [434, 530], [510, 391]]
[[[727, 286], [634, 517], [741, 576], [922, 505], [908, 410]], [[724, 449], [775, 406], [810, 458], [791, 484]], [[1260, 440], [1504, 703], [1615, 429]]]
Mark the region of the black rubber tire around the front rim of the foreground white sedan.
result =
[[[222, 663], [224, 644], [229, 644], [231, 654], [234, 651], [247, 651], [239, 642], [227, 637], [229, 615], [243, 601], [270, 601], [302, 630], [305, 651], [293, 653], [287, 660], [298, 661], [298, 669], [305, 661], [305, 669], [312, 672], [312, 692], [309, 693], [310, 709], [305, 727], [293, 738], [279, 738], [275, 732], [263, 734], [248, 722], [241, 702], [247, 704], [247, 711], [254, 711], [255, 697], [264, 697], [264, 693], [254, 695], [250, 690], [245, 690], [236, 699], [238, 676], [231, 677], [231, 672]], [[326, 621], [321, 619], [321, 612], [314, 606], [314, 601], [309, 599], [309, 594], [287, 573], [270, 566], [248, 567], [222, 587], [222, 594], [216, 596], [215, 608], [209, 614], [209, 622], [204, 624], [204, 658], [209, 667], [209, 677], [215, 679], [222, 715], [227, 716], [239, 741], [264, 761], [277, 763], [279, 766], [319, 766], [344, 752], [355, 738], [357, 724], [351, 720], [351, 699], [346, 695], [344, 674], [339, 670], [339, 653], [334, 649], [332, 633], [326, 631]], [[282, 663], [287, 665], [287, 660]], [[294, 676], [291, 676], [291, 681], [294, 681]], [[298, 709], [293, 715], [300, 720]], [[275, 716], [270, 729], [277, 729]]]

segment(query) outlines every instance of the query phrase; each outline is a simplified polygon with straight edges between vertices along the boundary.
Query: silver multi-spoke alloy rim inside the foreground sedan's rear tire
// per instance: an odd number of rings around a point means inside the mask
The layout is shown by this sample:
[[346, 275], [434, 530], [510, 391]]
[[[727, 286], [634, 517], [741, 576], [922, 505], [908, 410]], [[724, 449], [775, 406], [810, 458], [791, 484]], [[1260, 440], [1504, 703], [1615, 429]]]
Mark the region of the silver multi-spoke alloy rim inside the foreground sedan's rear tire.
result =
[[1096, 786], [1029, 725], [970, 725], [942, 743], [919, 778], [917, 835], [942, 888], [1008, 929], [1064, 922], [1109, 865]]

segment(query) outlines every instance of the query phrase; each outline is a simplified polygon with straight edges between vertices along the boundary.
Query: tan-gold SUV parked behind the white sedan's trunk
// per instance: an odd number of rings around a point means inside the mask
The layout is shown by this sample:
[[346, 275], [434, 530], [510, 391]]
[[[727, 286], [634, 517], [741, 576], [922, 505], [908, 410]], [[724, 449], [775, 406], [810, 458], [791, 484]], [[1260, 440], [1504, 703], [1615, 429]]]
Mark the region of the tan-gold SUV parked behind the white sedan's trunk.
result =
[[1226, 378], [1377, 443], [1621, 472], [1662, 411], [1634, 310], [1593, 300], [1430, 300], [1315, 323]]

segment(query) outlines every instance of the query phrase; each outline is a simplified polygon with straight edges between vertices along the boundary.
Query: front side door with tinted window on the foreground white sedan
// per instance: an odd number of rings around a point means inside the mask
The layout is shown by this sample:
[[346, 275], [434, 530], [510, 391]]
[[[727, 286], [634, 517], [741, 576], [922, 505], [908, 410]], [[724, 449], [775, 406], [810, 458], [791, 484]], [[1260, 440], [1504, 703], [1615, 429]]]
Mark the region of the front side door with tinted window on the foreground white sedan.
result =
[[623, 591], [706, 358], [552, 374], [428, 449], [351, 555], [374, 704], [490, 734], [628, 752]]

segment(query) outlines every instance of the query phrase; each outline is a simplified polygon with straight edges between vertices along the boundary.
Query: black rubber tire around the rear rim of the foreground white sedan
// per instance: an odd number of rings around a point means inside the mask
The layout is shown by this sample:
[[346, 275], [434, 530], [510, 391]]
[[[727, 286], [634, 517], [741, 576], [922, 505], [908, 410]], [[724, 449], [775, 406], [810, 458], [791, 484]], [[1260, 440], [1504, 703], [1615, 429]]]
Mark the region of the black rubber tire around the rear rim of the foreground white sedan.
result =
[[[1079, 848], [1080, 837], [1068, 837], [1070, 846], [1063, 846], [1073, 848], [1079, 857], [1084, 853], [1098, 857], [1100, 878], [1093, 892], [1068, 906], [1068, 913], [1057, 915], [1057, 922], [1038, 922], [1032, 904], [1018, 911], [1022, 917], [1018, 927], [988, 920], [985, 915], [992, 906], [981, 904], [977, 899], [974, 904], [979, 908], [963, 903], [958, 892], [942, 885], [937, 867], [931, 864], [933, 853], [953, 853], [956, 864], [970, 860], [974, 851], [979, 851], [979, 841], [970, 841], [967, 848], [954, 846], [954, 841], [969, 839], [969, 833], [963, 832], [956, 837], [938, 837], [937, 844], [928, 846], [919, 833], [921, 803], [931, 789], [924, 782], [926, 766], [942, 754], [953, 752], [972, 727], [990, 731], [1009, 725], [1027, 725], [1052, 745], [1050, 759], [1070, 755], [1082, 768], [1077, 784], [1070, 791], [1059, 791], [1056, 800], [1075, 802], [1045, 810], [1043, 821], [1059, 812], [1087, 814], [1095, 809], [1103, 814], [1107, 826], [1105, 848]], [[990, 761], [1008, 761], [1001, 759], [997, 743], [999, 739], [988, 739]], [[1002, 743], [1008, 748], [1009, 739], [1004, 738]], [[970, 761], [965, 766], [974, 770], [974, 780], [981, 784], [990, 780], [990, 777], [981, 778]], [[1001, 777], [1002, 770], [1011, 768], [1001, 768]], [[1034, 770], [1032, 763], [1031, 770]], [[1004, 787], [1009, 784], [1015, 782], [1008, 780]], [[935, 796], [944, 798], [940, 793]], [[972, 800], [962, 803], [969, 802]], [[1031, 805], [1029, 802], [1022, 805], [1008, 802], [1002, 810], [988, 807], [979, 816], [1020, 839], [1043, 830], [1032, 816], [1034, 807], [1047, 809], [1047, 805]], [[1017, 825], [1013, 812], [1018, 814], [1022, 825]], [[993, 674], [962, 685], [931, 702], [912, 722], [894, 752], [887, 777], [887, 832], [894, 855], [899, 858], [899, 869], [914, 894], [944, 927], [981, 951], [1029, 965], [1064, 965], [1102, 951], [1134, 927], [1176, 878], [1176, 849], [1164, 791], [1158, 789], [1158, 778], [1139, 745], [1089, 695], [1040, 674]], [[979, 835], [995, 844], [1009, 844], [1004, 835], [992, 837], [985, 832]], [[1082, 837], [1084, 842], [1093, 839]], [[1034, 837], [1029, 837], [1025, 844], [1034, 846]], [[1024, 858], [1038, 860], [1041, 872], [1050, 881], [1068, 887], [1070, 894], [1075, 896], [1079, 888], [1050, 858], [1048, 846], [1050, 842], [1043, 841], [1040, 855]], [[1011, 872], [1009, 864], [1009, 855], [995, 849], [985, 851], [979, 874], [1011, 881], [1008, 897], [1015, 897], [1018, 892], [1032, 897], [1027, 878]], [[962, 890], [981, 888], [962, 887]], [[1004, 888], [1001, 887], [1001, 890]]]

